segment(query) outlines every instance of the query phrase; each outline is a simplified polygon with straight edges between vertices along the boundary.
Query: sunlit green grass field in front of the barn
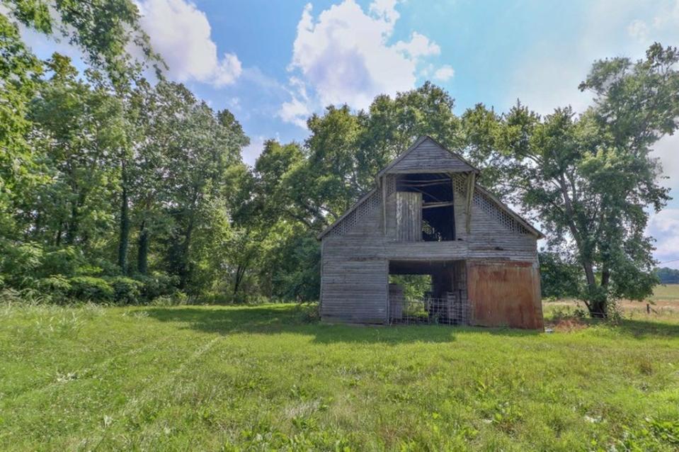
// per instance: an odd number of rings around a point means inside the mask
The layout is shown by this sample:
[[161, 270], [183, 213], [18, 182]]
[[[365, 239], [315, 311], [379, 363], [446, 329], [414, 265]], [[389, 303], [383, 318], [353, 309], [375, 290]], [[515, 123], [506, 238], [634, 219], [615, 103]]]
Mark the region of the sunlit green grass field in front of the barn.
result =
[[679, 447], [679, 322], [552, 334], [295, 305], [0, 305], [0, 450]]

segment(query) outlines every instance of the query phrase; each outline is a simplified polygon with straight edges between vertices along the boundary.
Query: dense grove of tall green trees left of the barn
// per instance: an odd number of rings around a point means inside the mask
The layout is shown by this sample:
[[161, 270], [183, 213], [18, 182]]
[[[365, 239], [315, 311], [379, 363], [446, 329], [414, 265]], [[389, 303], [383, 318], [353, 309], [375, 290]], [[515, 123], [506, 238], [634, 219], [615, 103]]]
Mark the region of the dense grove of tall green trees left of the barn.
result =
[[4, 286], [55, 300], [214, 290], [224, 275], [205, 269], [229, 271], [212, 249], [234, 233], [227, 212], [248, 143], [234, 116], [179, 84], [116, 90], [58, 54], [43, 67], [25, 106], [25, 159], [4, 185]]

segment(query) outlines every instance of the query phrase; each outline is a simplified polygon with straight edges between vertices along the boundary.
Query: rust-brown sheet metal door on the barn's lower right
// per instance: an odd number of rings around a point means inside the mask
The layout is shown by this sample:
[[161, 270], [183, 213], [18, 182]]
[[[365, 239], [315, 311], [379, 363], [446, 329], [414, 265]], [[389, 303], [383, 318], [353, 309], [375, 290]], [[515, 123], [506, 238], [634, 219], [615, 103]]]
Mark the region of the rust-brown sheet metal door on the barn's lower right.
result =
[[543, 329], [540, 273], [532, 262], [468, 261], [473, 324]]

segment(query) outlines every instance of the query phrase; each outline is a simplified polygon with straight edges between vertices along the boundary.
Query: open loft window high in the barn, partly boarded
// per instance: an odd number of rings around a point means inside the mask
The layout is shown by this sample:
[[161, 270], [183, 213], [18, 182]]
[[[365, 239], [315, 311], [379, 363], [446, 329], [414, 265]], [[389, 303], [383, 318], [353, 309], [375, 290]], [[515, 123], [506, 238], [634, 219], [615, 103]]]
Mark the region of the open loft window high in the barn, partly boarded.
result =
[[452, 180], [447, 174], [402, 174], [396, 179], [397, 239], [455, 240]]

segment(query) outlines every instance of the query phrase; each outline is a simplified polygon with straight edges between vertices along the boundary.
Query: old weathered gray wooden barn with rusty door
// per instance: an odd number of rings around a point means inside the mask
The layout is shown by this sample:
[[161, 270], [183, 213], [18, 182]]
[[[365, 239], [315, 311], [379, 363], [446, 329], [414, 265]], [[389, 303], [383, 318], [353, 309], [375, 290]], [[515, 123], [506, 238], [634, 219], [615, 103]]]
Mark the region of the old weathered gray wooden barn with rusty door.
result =
[[[479, 176], [430, 137], [382, 169], [319, 235], [323, 320], [542, 329], [542, 234]], [[394, 275], [428, 275], [429, 290], [406, 300]]]

